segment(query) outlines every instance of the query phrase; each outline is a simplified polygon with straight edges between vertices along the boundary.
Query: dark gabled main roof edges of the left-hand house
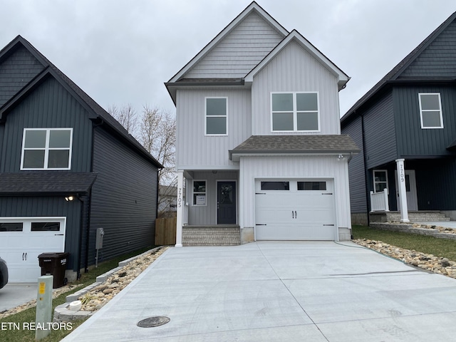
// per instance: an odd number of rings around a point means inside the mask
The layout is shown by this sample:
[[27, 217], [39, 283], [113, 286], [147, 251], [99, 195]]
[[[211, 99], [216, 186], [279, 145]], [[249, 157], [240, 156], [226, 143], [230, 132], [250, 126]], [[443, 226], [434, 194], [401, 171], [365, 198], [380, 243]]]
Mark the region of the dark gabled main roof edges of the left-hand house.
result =
[[152, 155], [150, 155], [147, 150], [145, 150], [144, 147], [136, 140], [133, 138], [132, 135], [130, 135], [127, 130], [123, 127], [123, 125], [120, 125], [115, 118], [113, 118], [112, 115], [110, 115], [106, 110], [104, 110], [98, 103], [93, 100], [93, 98], [90, 98], [87, 93], [85, 93], [81, 88], [79, 88], [76, 83], [71, 81], [68, 76], [66, 76], [64, 73], [62, 73], [56, 66], [53, 65], [48, 59], [43, 56], [34, 46], [31, 45], [28, 41], [26, 41], [25, 38], [21, 36], [17, 36], [14, 38], [13, 41], [11, 41], [7, 46], [5, 46], [3, 49], [0, 51], [0, 63], [4, 61], [8, 56], [13, 53], [17, 48], [20, 48], [21, 46], [24, 46], [25, 48], [30, 51], [33, 56], [41, 63], [43, 64], [44, 68], [41, 73], [38, 74], [31, 82], [29, 82], [19, 93], [14, 95], [11, 100], [8, 102], [4, 103], [4, 105], [0, 106], [0, 123], [4, 122], [6, 120], [6, 115], [11, 110], [14, 108], [21, 98], [24, 96], [28, 95], [28, 93], [33, 90], [34, 87], [36, 87], [38, 84], [40, 84], [42, 81], [44, 81], [47, 77], [53, 77], [61, 83], [61, 85], [66, 88], [70, 93], [75, 95], [75, 98], [79, 100], [81, 105], [83, 105], [84, 108], [88, 110], [88, 112], [91, 114], [90, 118], [91, 119], [98, 119], [100, 120], [100, 123], [102, 123], [105, 126], [108, 126], [110, 130], [113, 131], [120, 139], [123, 141], [127, 142], [128, 145], [132, 146], [134, 150], [136, 150], [140, 155], [146, 157], [147, 160], [150, 160], [152, 164], [154, 164], [158, 168], [162, 168], [163, 166], [158, 162]]

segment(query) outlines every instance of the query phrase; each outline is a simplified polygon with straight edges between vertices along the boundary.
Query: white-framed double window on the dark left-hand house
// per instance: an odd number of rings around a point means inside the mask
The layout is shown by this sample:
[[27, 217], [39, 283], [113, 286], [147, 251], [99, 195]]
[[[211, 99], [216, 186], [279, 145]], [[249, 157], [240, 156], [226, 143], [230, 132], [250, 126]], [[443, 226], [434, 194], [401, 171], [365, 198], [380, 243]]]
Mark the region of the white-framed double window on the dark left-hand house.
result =
[[73, 128], [24, 128], [21, 170], [70, 170]]

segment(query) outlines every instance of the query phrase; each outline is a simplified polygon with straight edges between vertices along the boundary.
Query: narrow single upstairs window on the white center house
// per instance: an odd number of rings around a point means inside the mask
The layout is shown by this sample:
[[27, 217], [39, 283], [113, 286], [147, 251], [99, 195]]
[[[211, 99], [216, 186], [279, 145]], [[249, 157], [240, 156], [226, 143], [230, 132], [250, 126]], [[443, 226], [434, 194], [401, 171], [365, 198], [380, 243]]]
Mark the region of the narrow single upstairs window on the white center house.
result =
[[204, 98], [204, 132], [228, 135], [228, 98]]

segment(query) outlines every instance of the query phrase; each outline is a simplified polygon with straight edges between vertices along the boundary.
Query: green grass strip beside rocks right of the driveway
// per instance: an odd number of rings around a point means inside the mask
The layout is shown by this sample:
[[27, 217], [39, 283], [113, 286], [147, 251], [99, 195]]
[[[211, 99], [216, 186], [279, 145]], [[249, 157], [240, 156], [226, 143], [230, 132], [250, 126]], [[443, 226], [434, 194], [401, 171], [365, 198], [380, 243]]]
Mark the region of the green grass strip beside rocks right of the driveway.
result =
[[456, 240], [437, 239], [437, 237], [404, 232], [390, 232], [365, 226], [353, 226], [352, 234], [353, 239], [377, 240], [396, 247], [414, 249], [417, 252], [456, 261]]

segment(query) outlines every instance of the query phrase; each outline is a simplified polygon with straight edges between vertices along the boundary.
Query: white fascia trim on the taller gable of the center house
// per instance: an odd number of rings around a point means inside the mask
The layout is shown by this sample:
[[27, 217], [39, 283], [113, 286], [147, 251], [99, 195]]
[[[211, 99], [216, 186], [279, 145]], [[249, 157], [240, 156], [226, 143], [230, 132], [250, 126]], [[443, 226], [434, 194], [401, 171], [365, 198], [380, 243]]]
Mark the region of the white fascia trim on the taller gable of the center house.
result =
[[266, 20], [271, 27], [273, 27], [277, 32], [281, 33], [284, 37], [289, 34], [286, 29], [281, 26], [274, 18], [272, 18], [264, 9], [261, 8], [255, 1], [252, 2], [249, 6], [247, 6], [244, 11], [242, 11], [239, 16], [237, 16], [231, 23], [228, 24], [227, 27], [225, 27], [212, 41], [210, 41], [207, 46], [204, 46], [204, 48], [199, 51], [199, 53], [192, 58], [190, 62], [188, 62], [178, 73], [173, 76], [168, 83], [173, 83], [177, 82], [182, 78], [190, 69], [195, 66], [204, 56], [209, 53], [209, 51], [214, 48], [214, 46], [217, 46], [217, 44], [222, 41], [222, 39], [229, 34], [241, 21], [244, 20], [245, 17], [247, 17], [252, 11], [255, 11], [261, 18]]

